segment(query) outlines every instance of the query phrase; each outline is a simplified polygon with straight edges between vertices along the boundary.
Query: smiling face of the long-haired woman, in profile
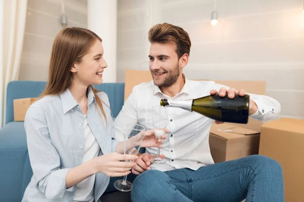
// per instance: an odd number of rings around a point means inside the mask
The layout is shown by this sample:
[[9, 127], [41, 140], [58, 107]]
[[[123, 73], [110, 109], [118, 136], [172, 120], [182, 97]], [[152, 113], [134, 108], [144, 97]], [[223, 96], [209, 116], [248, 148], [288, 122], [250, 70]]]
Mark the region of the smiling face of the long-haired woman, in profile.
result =
[[77, 82], [86, 86], [96, 85], [102, 83], [102, 73], [106, 67], [102, 43], [100, 40], [96, 40], [81, 61], [74, 63], [71, 72], [73, 79]]

